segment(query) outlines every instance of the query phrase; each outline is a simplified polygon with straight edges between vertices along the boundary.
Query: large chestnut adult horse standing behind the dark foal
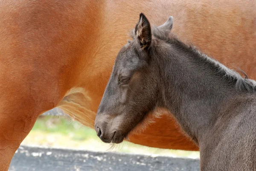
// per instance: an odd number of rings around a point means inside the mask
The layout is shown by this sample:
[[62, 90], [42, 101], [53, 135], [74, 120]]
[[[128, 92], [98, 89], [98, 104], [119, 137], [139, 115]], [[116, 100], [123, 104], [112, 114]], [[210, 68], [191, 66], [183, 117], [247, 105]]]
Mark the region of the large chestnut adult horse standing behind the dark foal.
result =
[[[255, 0], [2, 0], [1, 171], [47, 110], [60, 107], [94, 128], [114, 60], [140, 12], [154, 25], [174, 16], [173, 32], [182, 41], [256, 79]], [[151, 120], [131, 142], [198, 150], [173, 118]]]

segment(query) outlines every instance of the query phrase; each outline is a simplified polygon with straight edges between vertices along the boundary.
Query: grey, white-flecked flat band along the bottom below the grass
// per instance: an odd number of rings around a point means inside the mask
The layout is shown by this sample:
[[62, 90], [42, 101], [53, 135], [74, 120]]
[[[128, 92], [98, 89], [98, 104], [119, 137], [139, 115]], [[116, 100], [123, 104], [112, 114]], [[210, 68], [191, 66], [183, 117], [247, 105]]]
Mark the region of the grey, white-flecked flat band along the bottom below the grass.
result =
[[199, 160], [20, 146], [9, 171], [199, 171]]

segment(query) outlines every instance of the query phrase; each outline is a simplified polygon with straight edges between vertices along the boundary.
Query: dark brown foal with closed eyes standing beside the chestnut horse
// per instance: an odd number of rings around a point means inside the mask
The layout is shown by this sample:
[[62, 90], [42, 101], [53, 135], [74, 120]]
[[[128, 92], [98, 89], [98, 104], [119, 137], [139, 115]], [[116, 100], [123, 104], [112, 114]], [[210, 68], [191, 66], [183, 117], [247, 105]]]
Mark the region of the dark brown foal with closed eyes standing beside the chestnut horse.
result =
[[201, 171], [256, 171], [256, 82], [242, 78], [140, 14], [117, 55], [95, 119], [120, 143], [156, 107], [168, 109], [200, 147]]

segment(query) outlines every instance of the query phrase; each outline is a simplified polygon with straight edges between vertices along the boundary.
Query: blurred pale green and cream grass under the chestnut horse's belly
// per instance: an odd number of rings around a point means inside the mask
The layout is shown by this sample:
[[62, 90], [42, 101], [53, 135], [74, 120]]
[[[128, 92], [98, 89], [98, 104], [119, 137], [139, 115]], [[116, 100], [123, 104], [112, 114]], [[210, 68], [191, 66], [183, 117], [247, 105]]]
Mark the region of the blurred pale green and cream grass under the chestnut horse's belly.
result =
[[125, 152], [129, 154], [185, 157], [193, 159], [199, 158], [199, 152], [196, 151], [150, 148], [126, 141], [114, 146], [105, 144], [97, 137], [94, 129], [88, 128], [79, 122], [72, 120], [58, 108], [49, 110], [44, 113], [44, 115], [41, 115], [21, 145], [104, 152]]

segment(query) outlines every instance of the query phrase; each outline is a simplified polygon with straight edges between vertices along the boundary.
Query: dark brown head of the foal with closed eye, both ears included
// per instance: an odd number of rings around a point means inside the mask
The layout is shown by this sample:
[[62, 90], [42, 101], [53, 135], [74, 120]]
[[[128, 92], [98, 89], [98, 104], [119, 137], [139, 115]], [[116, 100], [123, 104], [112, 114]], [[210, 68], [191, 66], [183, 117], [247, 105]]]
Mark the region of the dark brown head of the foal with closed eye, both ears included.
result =
[[145, 15], [140, 14], [133, 40], [117, 55], [96, 115], [95, 129], [103, 142], [122, 142], [157, 106], [159, 69], [148, 54], [157, 41], [154, 35], [167, 38], [172, 21], [169, 17], [166, 23], [152, 29]]

